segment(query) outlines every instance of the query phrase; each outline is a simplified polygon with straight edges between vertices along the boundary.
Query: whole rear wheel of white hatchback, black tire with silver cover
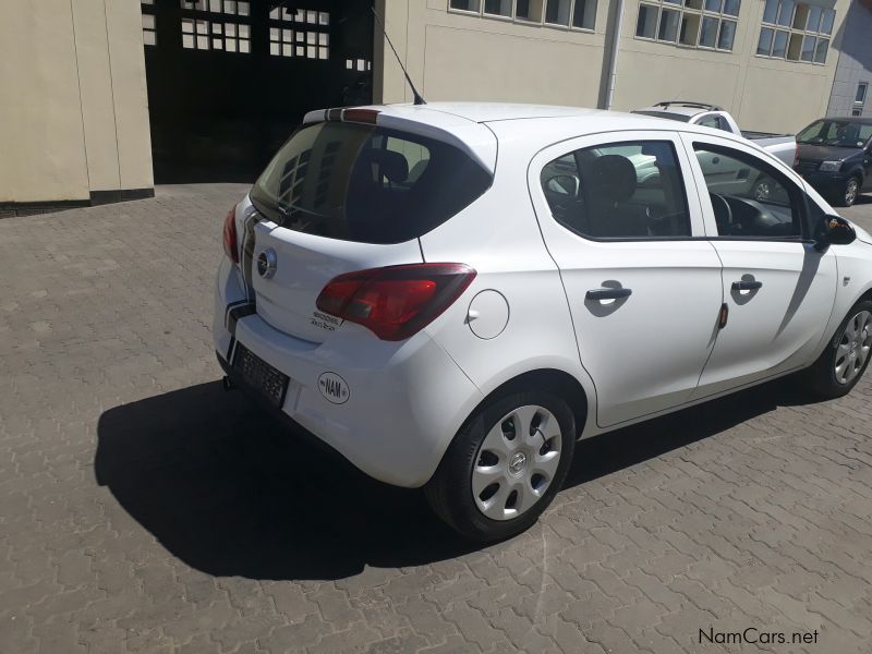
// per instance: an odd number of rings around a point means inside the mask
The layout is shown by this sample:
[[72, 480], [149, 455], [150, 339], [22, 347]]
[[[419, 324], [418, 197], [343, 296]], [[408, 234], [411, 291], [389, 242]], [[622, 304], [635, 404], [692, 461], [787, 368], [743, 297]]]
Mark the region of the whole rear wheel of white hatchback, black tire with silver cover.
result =
[[460, 428], [424, 492], [462, 536], [501, 541], [529, 529], [562, 486], [576, 421], [547, 391], [487, 400]]

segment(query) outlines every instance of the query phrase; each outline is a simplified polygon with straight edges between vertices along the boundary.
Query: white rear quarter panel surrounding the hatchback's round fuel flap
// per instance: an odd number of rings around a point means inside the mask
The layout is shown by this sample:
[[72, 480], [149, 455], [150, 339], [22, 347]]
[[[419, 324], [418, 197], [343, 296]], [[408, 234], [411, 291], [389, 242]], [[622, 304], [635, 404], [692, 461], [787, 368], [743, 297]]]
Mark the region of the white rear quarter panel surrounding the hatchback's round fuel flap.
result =
[[[545, 249], [528, 190], [534, 152], [504, 140], [499, 132], [497, 136], [499, 157], [491, 190], [421, 238], [425, 261], [463, 263], [477, 272], [427, 332], [483, 396], [518, 375], [550, 368], [578, 379], [593, 407], [594, 387], [581, 366], [560, 274]], [[498, 336], [483, 339], [473, 334], [469, 311], [473, 298], [488, 289], [506, 299], [508, 322]], [[590, 433], [585, 428], [585, 436]]]

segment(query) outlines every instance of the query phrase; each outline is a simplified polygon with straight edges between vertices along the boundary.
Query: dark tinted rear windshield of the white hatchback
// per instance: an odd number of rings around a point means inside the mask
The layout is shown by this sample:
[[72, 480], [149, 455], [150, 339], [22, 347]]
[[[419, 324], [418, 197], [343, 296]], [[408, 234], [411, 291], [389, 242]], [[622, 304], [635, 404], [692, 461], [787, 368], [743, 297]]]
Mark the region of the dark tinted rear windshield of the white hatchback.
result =
[[491, 174], [462, 150], [376, 125], [322, 122], [299, 130], [251, 192], [288, 229], [359, 243], [401, 243], [481, 196]]

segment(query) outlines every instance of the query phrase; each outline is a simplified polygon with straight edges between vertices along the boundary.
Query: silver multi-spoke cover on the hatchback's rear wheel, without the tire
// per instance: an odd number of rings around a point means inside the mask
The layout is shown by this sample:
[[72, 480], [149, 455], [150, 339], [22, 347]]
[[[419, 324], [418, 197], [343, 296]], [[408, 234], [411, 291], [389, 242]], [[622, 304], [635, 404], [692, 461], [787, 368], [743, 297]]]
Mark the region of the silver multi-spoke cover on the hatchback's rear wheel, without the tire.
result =
[[475, 506], [492, 520], [512, 520], [529, 511], [557, 474], [560, 446], [560, 425], [544, 407], [519, 407], [504, 415], [475, 455]]

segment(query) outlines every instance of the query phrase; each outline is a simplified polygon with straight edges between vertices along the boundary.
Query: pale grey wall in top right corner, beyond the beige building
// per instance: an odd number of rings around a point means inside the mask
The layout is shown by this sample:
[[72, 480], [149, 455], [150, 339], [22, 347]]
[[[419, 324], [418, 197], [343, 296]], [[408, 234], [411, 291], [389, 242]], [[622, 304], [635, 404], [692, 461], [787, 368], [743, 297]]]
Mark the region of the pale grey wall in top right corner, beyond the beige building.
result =
[[872, 0], [851, 3], [827, 116], [851, 116], [860, 82], [869, 85], [861, 116], [872, 118]]

